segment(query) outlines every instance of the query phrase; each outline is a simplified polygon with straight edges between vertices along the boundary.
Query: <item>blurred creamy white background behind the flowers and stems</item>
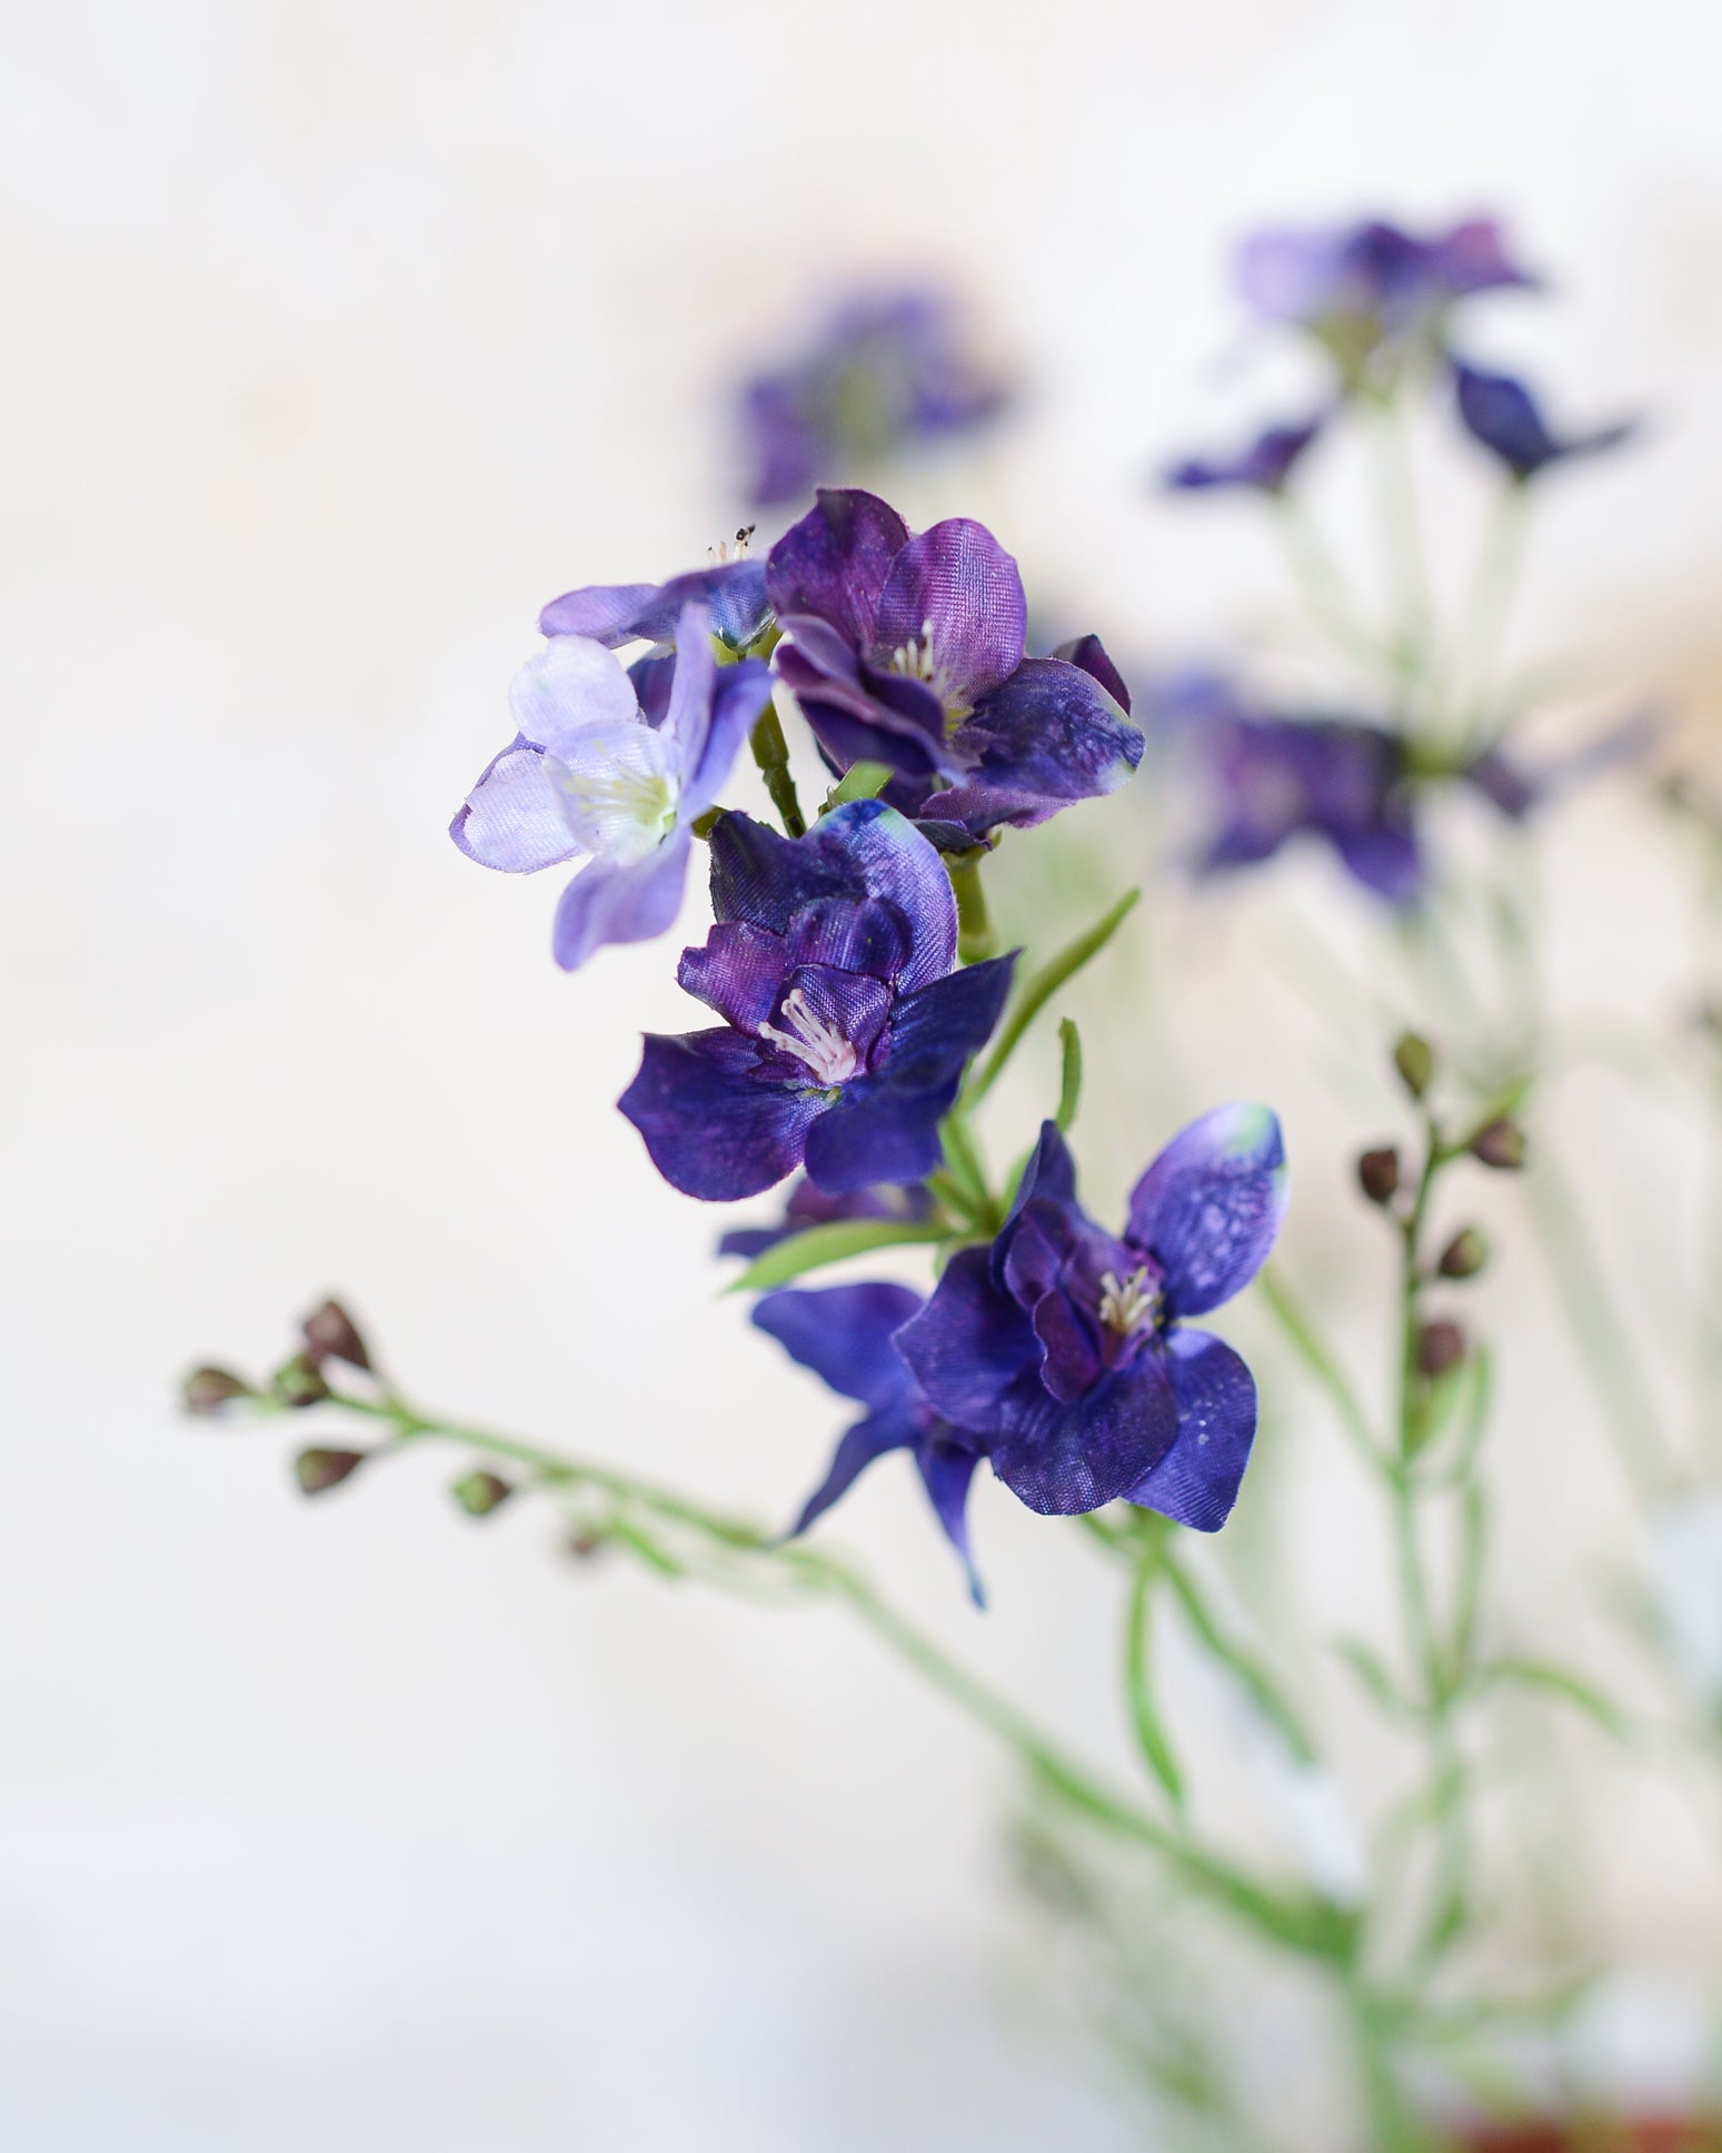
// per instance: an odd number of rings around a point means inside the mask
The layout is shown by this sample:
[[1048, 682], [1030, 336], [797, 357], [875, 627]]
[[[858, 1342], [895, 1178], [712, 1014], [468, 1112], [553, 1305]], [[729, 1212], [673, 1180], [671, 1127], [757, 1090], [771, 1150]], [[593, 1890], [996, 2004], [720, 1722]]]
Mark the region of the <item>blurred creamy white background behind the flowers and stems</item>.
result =
[[[1276, 590], [1246, 517], [1143, 484], [1261, 407], [1231, 241], [1500, 209], [1558, 291], [1492, 301], [1487, 355], [1563, 416], [1653, 422], [1552, 482], [1520, 637], [1700, 732], [1713, 11], [155, 0], [13, 4], [6, 45], [0, 2142], [1141, 2142], [1046, 1998], [1003, 1763], [865, 1638], [579, 1570], [530, 1505], [467, 1524], [452, 1458], [306, 1505], [284, 1436], [187, 1425], [170, 1384], [269, 1365], [340, 1290], [443, 1408], [764, 1518], [816, 1477], [842, 1408], [715, 1298], [715, 1216], [611, 1111], [637, 1031], [682, 1021], [667, 949], [557, 975], [553, 889], [443, 827], [538, 605], [743, 519], [725, 383], [857, 271], [956, 278], [1033, 388], [902, 506], [986, 517], [1046, 609], [1173, 655]], [[1668, 1018], [1660, 842], [1601, 794], [1556, 833], [1576, 1003]], [[1276, 887], [1345, 902], [1319, 861]], [[1093, 1195], [1175, 1115], [1268, 1096], [1292, 1255], [1341, 1292], [1378, 1253], [1345, 1158], [1391, 1092], [1335, 1092], [1242, 921], [1149, 928], [1100, 977], [1093, 1023], [1128, 1025], [1171, 949], [1175, 1038], [1102, 1057]], [[1692, 1199], [1677, 1115], [1623, 1111], [1597, 1089], [1571, 1128], [1632, 1268]], [[1474, 1307], [1522, 1369], [1502, 1533], [1535, 1632], [1573, 1550], [1632, 1529], [1511, 1216]], [[1240, 1548], [1315, 1576], [1317, 1632], [1367, 1626], [1365, 1507], [1309, 1406], [1287, 1378]], [[977, 1486], [986, 1619], [906, 1473], [835, 1533], [1109, 1755], [1117, 1610], [1074, 1533]], [[1713, 1856], [1675, 1802], [1629, 1815], [1595, 1918], [1703, 1970]]]

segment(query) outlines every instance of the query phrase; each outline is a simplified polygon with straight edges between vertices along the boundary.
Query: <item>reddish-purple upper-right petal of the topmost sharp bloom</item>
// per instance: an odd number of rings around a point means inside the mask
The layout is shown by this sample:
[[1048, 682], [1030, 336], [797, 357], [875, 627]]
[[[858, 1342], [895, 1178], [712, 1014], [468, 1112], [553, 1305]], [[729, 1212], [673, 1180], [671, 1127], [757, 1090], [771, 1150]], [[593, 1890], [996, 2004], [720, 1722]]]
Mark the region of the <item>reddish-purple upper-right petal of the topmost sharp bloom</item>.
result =
[[[1022, 663], [1022, 575], [984, 523], [951, 517], [902, 547], [878, 596], [874, 659], [932, 637], [949, 689], [975, 704]], [[949, 698], [947, 698], [949, 700]]]

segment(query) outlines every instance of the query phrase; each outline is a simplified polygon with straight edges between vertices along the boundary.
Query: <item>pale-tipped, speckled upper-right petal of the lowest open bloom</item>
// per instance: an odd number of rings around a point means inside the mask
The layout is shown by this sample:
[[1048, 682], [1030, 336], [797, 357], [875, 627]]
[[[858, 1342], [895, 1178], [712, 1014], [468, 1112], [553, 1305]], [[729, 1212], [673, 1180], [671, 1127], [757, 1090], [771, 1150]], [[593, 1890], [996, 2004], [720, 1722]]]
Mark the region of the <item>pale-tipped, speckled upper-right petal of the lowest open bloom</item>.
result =
[[1216, 1107], [1137, 1182], [1128, 1238], [1165, 1270], [1169, 1315], [1203, 1315], [1248, 1285], [1285, 1216], [1285, 1143], [1266, 1107]]

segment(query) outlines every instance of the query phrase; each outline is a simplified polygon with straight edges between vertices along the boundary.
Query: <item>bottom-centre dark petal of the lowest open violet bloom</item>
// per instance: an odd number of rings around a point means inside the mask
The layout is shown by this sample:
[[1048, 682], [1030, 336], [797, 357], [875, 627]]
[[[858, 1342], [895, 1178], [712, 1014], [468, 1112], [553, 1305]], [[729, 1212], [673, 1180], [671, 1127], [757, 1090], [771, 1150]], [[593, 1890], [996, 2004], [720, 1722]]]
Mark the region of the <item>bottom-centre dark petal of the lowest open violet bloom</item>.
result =
[[1137, 1488], [1175, 1436], [1171, 1382], [1160, 1356], [1145, 1352], [1068, 1406], [1035, 1376], [1018, 1378], [992, 1443], [992, 1470], [1029, 1509], [1070, 1518]]

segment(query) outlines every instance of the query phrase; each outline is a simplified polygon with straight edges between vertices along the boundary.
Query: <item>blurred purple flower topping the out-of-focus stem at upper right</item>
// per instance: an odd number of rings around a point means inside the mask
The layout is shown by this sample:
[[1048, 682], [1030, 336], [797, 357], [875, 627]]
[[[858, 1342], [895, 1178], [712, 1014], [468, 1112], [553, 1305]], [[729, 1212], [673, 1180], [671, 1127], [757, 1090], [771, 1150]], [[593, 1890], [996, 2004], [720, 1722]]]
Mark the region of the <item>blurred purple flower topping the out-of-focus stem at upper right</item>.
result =
[[1238, 252], [1244, 304], [1264, 321], [1309, 329], [1352, 388], [1384, 347], [1438, 338], [1455, 299], [1530, 284], [1492, 217], [1429, 239], [1375, 220], [1268, 230]]

